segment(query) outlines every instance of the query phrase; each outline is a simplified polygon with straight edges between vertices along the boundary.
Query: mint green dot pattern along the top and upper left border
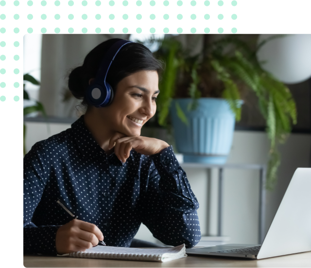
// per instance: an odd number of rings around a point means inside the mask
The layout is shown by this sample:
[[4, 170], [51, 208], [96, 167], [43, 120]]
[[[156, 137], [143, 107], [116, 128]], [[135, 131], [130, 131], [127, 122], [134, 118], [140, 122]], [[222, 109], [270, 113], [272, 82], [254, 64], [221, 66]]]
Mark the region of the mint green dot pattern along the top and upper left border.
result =
[[[11, 1], [0, 0], [0, 6], [8, 7], [9, 2], [10, 2], [11, 10], [12, 8], [14, 9], [15, 7], [21, 7], [20, 0], [11, 0]], [[155, 34], [156, 32], [162, 32], [162, 31], [164, 34], [169, 34], [169, 33], [173, 34], [176, 32], [177, 34], [182, 34], [184, 30], [186, 33], [190, 31], [191, 34], [195, 34], [197, 32], [200, 33], [200, 31], [202, 31], [201, 30], [202, 26], [198, 25], [197, 23], [199, 21], [201, 22], [203, 18], [206, 23], [206, 26], [209, 26], [208, 23], [211, 21], [213, 22], [219, 21], [219, 23], [224, 23], [230, 20], [233, 24], [233, 25], [225, 26], [224, 27], [225, 29], [223, 27], [219, 27], [221, 25], [217, 25], [217, 24], [215, 26], [213, 25], [211, 29], [209, 27], [204, 27], [203, 31], [206, 34], [210, 33], [210, 31], [217, 32], [219, 34], [223, 34], [225, 32], [226, 33], [231, 32], [233, 34], [237, 33], [237, 28], [234, 27], [234, 23], [236, 23], [234, 21], [236, 21], [238, 18], [237, 11], [236, 11], [236, 6], [238, 5], [237, 0], [230, 0], [226, 2], [224, 0], [217, 0], [217, 1], [210, 1], [210, 0], [201, 0], [201, 1], [199, 0], [158, 0], [158, 1], [155, 1], [155, 0], [145, 0], [145, 1], [142, 1], [142, 0], [131, 0], [131, 1], [129, 0], [119, 0], [119, 1], [116, 1], [116, 0], [106, 0], [106, 1], [103, 1], [103, 0], [92, 0], [92, 1], [90, 0], [64, 0], [64, 1], [25, 0], [23, 4], [24, 4], [23, 7], [25, 8], [26, 14], [23, 14], [20, 11], [17, 11], [17, 9], [13, 10], [12, 14], [6, 13], [4, 11], [5, 9], [2, 9], [2, 12], [0, 11], [1, 13], [0, 21], [2, 21], [2, 27], [0, 26], [1, 34], [9, 34], [12, 32], [14, 34], [21, 34], [20, 30], [22, 30], [22, 28], [19, 27], [18, 24], [14, 28], [13, 27], [10, 28], [8, 26], [9, 24], [7, 22], [8, 20], [12, 19], [12, 17], [14, 21], [18, 21], [18, 22], [25, 21], [26, 22], [26, 32], [24, 32], [23, 35], [25, 33], [28, 33], [28, 34], [35, 34], [35, 33], [87, 34], [89, 33], [91, 34], [91, 33], [94, 33], [94, 31], [96, 34], [100, 34], [100, 33], [104, 33], [105, 31], [107, 31], [107, 29], [110, 34], [114, 34], [116, 32], [116, 29], [113, 27], [114, 26], [113, 24], [121, 23], [121, 22], [123, 22], [123, 25], [121, 25], [122, 27], [121, 32], [124, 34], [127, 34], [129, 33], [129, 31], [132, 31], [132, 30], [133, 32], [136, 32], [137, 34], [146, 33], [148, 31], [151, 34]], [[101, 23], [100, 25], [94, 25], [94, 26], [92, 25], [93, 27], [88, 26], [89, 21], [94, 19], [93, 17], [94, 15], [91, 15], [89, 12], [87, 12], [87, 8], [90, 8], [90, 7], [93, 9], [100, 7], [99, 9], [96, 10], [97, 14], [95, 13], [95, 20]], [[211, 12], [211, 7], [217, 8], [216, 14], [214, 12]], [[227, 8], [229, 7], [231, 7], [231, 9], [234, 9], [234, 11], [232, 10], [233, 12], [228, 14], [227, 12], [225, 12], [225, 9], [227, 10]], [[54, 8], [54, 9], [51, 9], [51, 8]], [[82, 13], [78, 14], [76, 12], [77, 10], [76, 8], [78, 8], [79, 10], [82, 8]], [[103, 8], [109, 8], [110, 14], [104, 13], [102, 11]], [[123, 8], [122, 9], [123, 14], [118, 15], [117, 13], [119, 12], [119, 10], [116, 10], [116, 8], [117, 9]], [[185, 13], [183, 12], [183, 8], [184, 9], [187, 8], [187, 10], [188, 9], [191, 9], [191, 10], [189, 10], [189, 13]], [[198, 8], [200, 8], [200, 12], [198, 12]], [[203, 14], [201, 12], [202, 8], [205, 9], [203, 11]], [[50, 9], [53, 10], [52, 14], [51, 12], [49, 12]], [[177, 12], [176, 12], [177, 15], [173, 15], [172, 13], [170, 13], [171, 9], [172, 10], [177, 9]], [[68, 10], [69, 12], [66, 12], [67, 13], [66, 14], [63, 10]], [[161, 10], [161, 12], [159, 12], [158, 10]], [[172, 16], [170, 17], [170, 15]], [[49, 16], [49, 19], [48, 19], [48, 16]], [[189, 16], [190, 16], [190, 19], [189, 19]], [[231, 19], [230, 19], [230, 16], [231, 16]], [[34, 22], [36, 22], [36, 20], [38, 19], [42, 21], [42, 27], [40, 27], [39, 29], [37, 29], [34, 26]], [[146, 19], [149, 19], [150, 21], [155, 22], [153, 27], [146, 28], [144, 26], [144, 23], [139, 25], [139, 21], [144, 22], [146, 21]], [[71, 27], [66, 27], [66, 28], [64, 27], [63, 29], [62, 24], [57, 25], [57, 22], [62, 23], [62, 21], [64, 20], [71, 21], [73, 23]], [[188, 23], [187, 29], [178, 27], [178, 24], [177, 26], [174, 27], [173, 26], [174, 21], [176, 20], [182, 21], [184, 23], [187, 21]], [[51, 21], [54, 21], [55, 24], [53, 25]], [[86, 22], [85, 27], [83, 26], [83, 24], [82, 26], [79, 26], [79, 27], [75, 26], [75, 25], [79, 25], [77, 23], [78, 21], [85, 21]], [[103, 27], [104, 21], [108, 21], [108, 23], [110, 23], [108, 28]], [[137, 23], [136, 28], [134, 29], [130, 28], [129, 30], [127, 27], [125, 27], [126, 23], [129, 23], [129, 22], [132, 23], [134, 21]], [[162, 22], [164, 21], [162, 27], [159, 26], [160, 21]], [[44, 25], [44, 23], [47, 23], [47, 24]], [[97, 27], [97, 26], [100, 26], [100, 27]], [[200, 26], [200, 28], [198, 28], [197, 26]], [[25, 31], [25, 30], [22, 30], [22, 31]], [[7, 40], [6, 41], [0, 40], [0, 47], [4, 48], [4, 47], [12, 46], [12, 43], [13, 43], [14, 48], [18, 48], [20, 46], [19, 41], [16, 41], [16, 40], [12, 40], [11, 43], [8, 43]], [[0, 61], [1, 62], [8, 61], [9, 57], [12, 57], [12, 56], [10, 56], [9, 54], [2, 53], [0, 55]], [[19, 61], [20, 55], [15, 53], [13, 55], [13, 59], [15, 62]], [[4, 75], [6, 73], [7, 73], [7, 69], [5, 68], [0, 69], [0, 74]], [[15, 68], [13, 70], [13, 73], [20, 74], [20, 69]], [[14, 88], [17, 89], [19, 88], [20, 85], [18, 82], [14, 82], [13, 86]], [[0, 82], [0, 87], [5, 88], [6, 82], [4, 81]], [[10, 87], [12, 87], [12, 85]], [[5, 101], [6, 97], [1, 96], [0, 99], [3, 102]], [[17, 95], [14, 96], [14, 101], [16, 102], [19, 101], [19, 96]]]

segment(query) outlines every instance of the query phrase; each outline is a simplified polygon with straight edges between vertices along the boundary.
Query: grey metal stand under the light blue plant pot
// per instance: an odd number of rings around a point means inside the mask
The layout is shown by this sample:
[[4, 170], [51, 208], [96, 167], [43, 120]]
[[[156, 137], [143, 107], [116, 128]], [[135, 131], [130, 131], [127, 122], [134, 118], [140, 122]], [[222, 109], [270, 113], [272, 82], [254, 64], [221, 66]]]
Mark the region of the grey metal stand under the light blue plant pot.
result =
[[224, 168], [241, 168], [241, 169], [257, 169], [259, 170], [259, 223], [258, 223], [258, 244], [262, 244], [265, 236], [265, 200], [266, 200], [266, 165], [259, 164], [205, 164], [205, 163], [181, 163], [182, 168], [218, 168], [218, 227], [217, 235], [222, 236], [221, 226], [222, 226], [222, 193], [223, 193], [223, 170]]

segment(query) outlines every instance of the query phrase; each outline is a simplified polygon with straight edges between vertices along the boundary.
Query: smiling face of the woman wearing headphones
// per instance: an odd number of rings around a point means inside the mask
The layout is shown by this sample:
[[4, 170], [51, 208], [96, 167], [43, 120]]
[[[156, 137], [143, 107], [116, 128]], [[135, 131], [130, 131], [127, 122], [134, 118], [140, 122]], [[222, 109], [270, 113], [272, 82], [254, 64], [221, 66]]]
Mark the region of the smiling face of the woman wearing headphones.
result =
[[123, 78], [114, 92], [112, 103], [100, 111], [105, 123], [109, 123], [105, 125], [126, 136], [140, 135], [142, 125], [155, 115], [159, 93], [157, 71], [133, 73]]

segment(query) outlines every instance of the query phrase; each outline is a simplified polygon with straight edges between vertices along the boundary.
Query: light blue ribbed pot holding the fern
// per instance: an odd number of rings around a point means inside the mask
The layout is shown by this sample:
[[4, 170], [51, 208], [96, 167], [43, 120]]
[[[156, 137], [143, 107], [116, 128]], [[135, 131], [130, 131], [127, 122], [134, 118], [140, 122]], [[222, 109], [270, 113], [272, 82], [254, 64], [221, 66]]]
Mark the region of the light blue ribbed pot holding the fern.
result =
[[[188, 111], [190, 101], [173, 99], [170, 107], [178, 152], [184, 155], [184, 162], [224, 164], [232, 145], [234, 113], [225, 99], [200, 98], [197, 109]], [[188, 126], [177, 116], [176, 103], [186, 115]]]

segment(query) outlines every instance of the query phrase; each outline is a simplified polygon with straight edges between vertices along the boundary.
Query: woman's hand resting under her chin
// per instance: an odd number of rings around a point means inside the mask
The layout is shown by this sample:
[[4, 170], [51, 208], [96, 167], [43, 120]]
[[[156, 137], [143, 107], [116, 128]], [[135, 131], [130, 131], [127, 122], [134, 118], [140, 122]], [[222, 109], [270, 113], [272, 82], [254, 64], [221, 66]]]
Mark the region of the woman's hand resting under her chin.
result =
[[115, 155], [124, 163], [130, 156], [132, 149], [140, 154], [151, 156], [161, 152], [170, 145], [155, 138], [141, 137], [138, 135], [126, 137], [124, 134], [116, 132], [109, 141], [109, 149], [113, 146], [115, 146]]

